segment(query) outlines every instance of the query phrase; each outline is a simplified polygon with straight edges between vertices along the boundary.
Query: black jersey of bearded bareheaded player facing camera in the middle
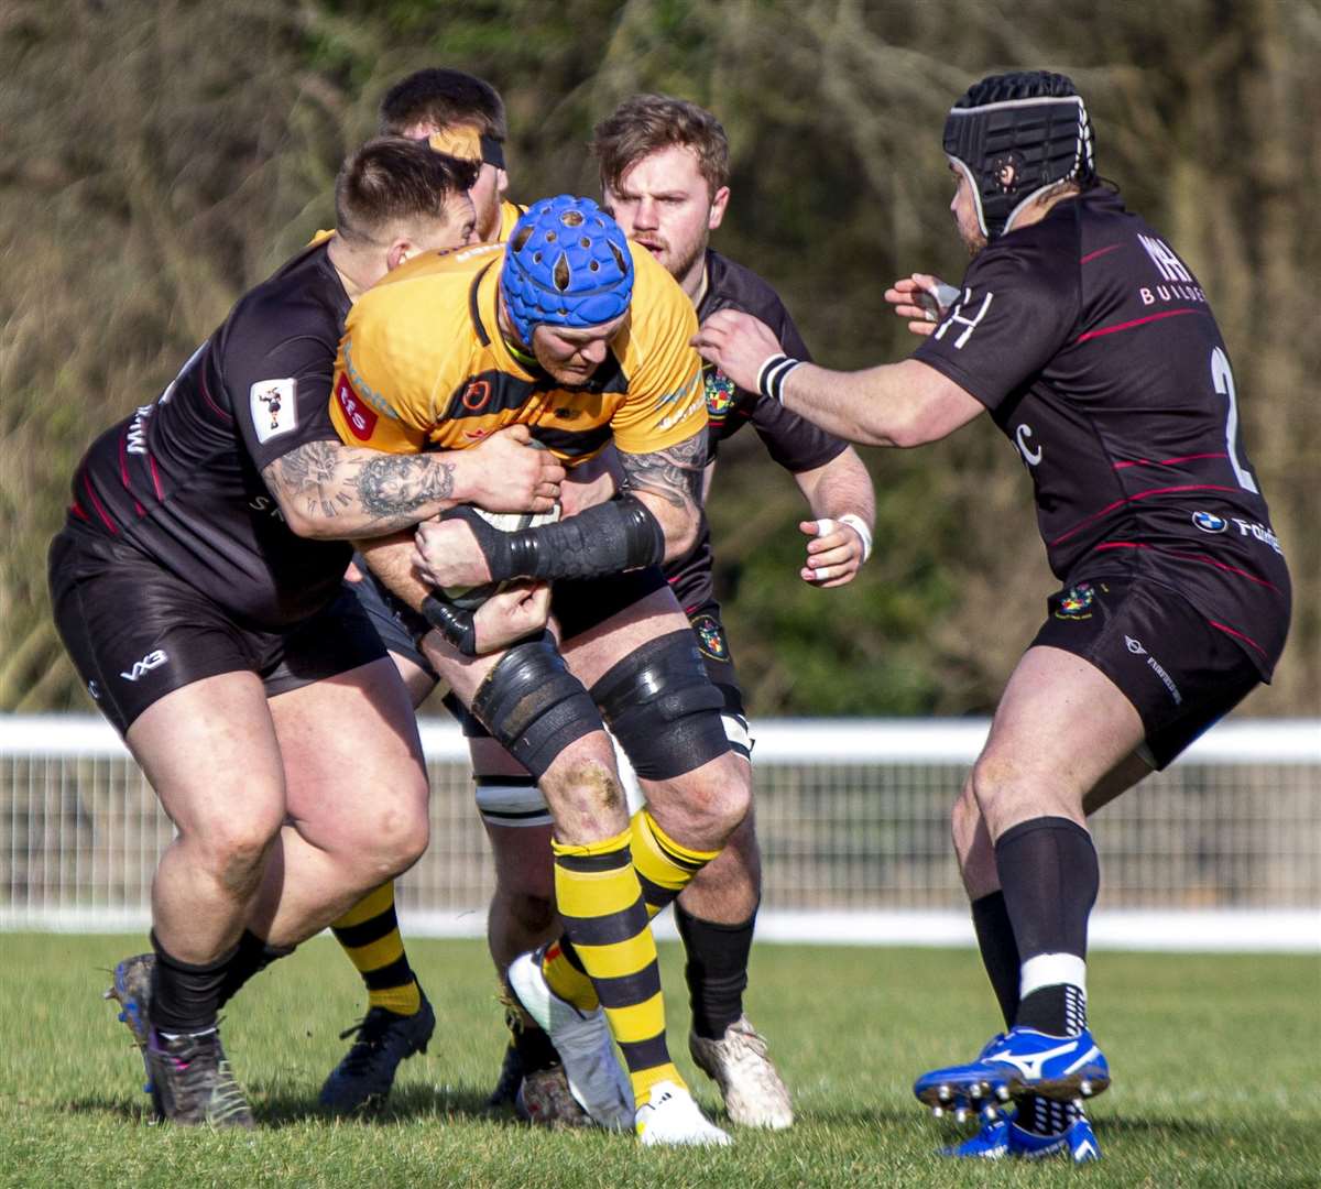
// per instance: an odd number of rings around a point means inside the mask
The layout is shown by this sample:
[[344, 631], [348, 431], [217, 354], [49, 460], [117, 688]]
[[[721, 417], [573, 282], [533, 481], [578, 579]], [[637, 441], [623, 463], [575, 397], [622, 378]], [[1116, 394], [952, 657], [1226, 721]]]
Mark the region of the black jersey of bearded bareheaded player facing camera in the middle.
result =
[[[795, 359], [811, 359], [779, 295], [750, 268], [708, 248], [707, 292], [697, 305], [697, 321], [704, 322], [717, 309], [740, 309], [754, 314], [770, 326], [785, 354]], [[701, 375], [707, 386], [708, 462], [716, 460], [721, 441], [733, 437], [748, 424], [757, 431], [770, 457], [794, 474], [824, 466], [848, 447], [848, 443], [790, 412], [778, 400], [768, 400], [760, 392], [736, 387], [713, 363], [705, 363]], [[703, 511], [697, 543], [686, 556], [664, 567], [666, 577], [684, 610], [696, 610], [711, 601], [711, 526]]]

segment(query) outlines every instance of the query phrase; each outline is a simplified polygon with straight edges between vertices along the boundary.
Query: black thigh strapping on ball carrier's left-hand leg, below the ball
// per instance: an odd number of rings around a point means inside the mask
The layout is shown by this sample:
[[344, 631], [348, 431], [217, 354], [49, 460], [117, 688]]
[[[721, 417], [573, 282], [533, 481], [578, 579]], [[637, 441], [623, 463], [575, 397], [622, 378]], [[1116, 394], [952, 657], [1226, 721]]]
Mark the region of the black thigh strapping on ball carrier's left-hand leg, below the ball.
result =
[[573, 740], [601, 729], [600, 712], [550, 633], [501, 657], [473, 696], [473, 713], [538, 781]]

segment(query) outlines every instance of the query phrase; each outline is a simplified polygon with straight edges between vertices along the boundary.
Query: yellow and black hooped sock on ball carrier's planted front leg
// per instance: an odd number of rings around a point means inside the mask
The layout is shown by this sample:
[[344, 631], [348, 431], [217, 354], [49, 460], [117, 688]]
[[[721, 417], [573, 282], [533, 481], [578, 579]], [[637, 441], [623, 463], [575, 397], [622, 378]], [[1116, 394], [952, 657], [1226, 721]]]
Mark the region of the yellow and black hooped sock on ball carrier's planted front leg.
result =
[[555, 897], [624, 1053], [638, 1104], [657, 1082], [683, 1086], [664, 1037], [655, 939], [629, 853], [630, 831], [587, 844], [551, 843]]

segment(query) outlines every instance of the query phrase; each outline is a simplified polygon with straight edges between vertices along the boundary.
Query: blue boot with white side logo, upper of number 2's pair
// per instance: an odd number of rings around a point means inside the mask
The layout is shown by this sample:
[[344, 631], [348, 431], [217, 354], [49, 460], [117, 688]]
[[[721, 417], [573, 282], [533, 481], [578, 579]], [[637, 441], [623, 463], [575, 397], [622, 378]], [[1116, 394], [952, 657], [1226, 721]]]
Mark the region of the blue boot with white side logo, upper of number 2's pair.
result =
[[1034, 1028], [1011, 1028], [992, 1037], [976, 1061], [922, 1074], [913, 1093], [934, 1111], [952, 1108], [959, 1118], [992, 1099], [1008, 1102], [1030, 1091], [1074, 1102], [1108, 1085], [1110, 1066], [1089, 1029], [1078, 1036], [1048, 1036]]

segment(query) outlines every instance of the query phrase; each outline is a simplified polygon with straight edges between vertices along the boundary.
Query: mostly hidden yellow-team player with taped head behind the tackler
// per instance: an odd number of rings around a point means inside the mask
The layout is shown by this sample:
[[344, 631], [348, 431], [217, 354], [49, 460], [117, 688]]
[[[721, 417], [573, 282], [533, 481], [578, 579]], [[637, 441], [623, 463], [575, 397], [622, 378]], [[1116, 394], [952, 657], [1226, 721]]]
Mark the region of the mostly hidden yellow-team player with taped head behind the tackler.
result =
[[[473, 203], [474, 239], [509, 236], [522, 207], [505, 199], [509, 189], [505, 104], [490, 83], [460, 70], [419, 70], [386, 92], [379, 122], [387, 135], [424, 140], [439, 152], [473, 162], [477, 173], [468, 197]], [[421, 705], [437, 678], [417, 650], [417, 625], [408, 621], [407, 609], [390, 597], [365, 564], [357, 563], [361, 558], [350, 567], [349, 579], [358, 601], [399, 668], [413, 705]], [[452, 700], [448, 704], [460, 715], [469, 736], [477, 806], [495, 859], [487, 935], [495, 967], [503, 976], [517, 954], [555, 931], [550, 815], [527, 773], [462, 707]], [[536, 803], [530, 806], [528, 799]], [[436, 1017], [404, 950], [394, 884], [382, 885], [354, 905], [334, 922], [333, 933], [362, 975], [367, 1011], [346, 1033], [354, 1037], [353, 1045], [326, 1078], [320, 1099], [338, 1114], [370, 1111], [383, 1104], [400, 1061], [427, 1046]], [[517, 1013], [510, 1017], [513, 1044], [491, 1104], [515, 1103], [520, 1114], [550, 1126], [589, 1123], [568, 1091], [555, 1049], [540, 1029], [520, 1027], [524, 1023]]]

